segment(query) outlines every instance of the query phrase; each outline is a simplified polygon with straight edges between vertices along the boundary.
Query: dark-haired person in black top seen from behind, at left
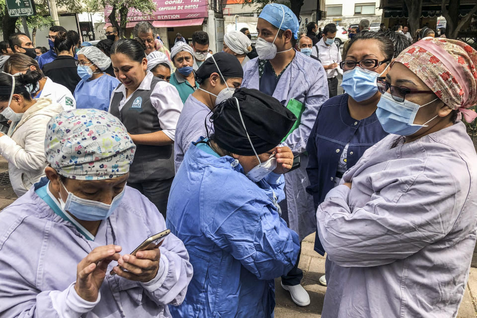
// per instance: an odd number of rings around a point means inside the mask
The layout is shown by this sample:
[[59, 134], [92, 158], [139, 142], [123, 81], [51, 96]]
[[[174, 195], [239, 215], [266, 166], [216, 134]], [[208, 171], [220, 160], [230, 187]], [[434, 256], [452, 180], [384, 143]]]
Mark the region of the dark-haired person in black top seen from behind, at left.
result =
[[74, 93], [76, 85], [81, 80], [77, 73], [78, 60], [74, 58], [75, 42], [66, 32], [60, 31], [55, 37], [54, 44], [57, 57], [53, 62], [43, 66], [43, 73]]

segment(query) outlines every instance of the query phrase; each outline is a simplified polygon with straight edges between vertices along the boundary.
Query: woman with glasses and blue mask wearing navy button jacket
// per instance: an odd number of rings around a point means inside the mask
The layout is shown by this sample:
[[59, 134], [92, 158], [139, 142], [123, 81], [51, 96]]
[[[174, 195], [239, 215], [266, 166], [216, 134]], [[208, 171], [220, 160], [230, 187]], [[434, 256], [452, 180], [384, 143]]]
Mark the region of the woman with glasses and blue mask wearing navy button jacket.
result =
[[[315, 207], [368, 148], [388, 135], [376, 117], [381, 97], [376, 81], [386, 75], [393, 53], [393, 42], [381, 33], [362, 32], [351, 39], [340, 63], [344, 72], [341, 86], [346, 92], [321, 105], [307, 144], [307, 190]], [[318, 235], [315, 250], [324, 255]], [[324, 275], [319, 282], [326, 286]]]

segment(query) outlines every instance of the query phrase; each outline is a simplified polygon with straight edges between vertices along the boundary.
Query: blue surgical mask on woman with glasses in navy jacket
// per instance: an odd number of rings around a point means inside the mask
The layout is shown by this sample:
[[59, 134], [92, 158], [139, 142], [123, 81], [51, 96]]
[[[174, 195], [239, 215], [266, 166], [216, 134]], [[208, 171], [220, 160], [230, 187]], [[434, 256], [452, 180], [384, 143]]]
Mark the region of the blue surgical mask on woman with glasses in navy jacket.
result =
[[343, 73], [341, 87], [356, 101], [371, 98], [378, 91], [378, 77], [386, 72], [390, 65], [391, 63], [381, 74], [355, 66], [354, 69]]

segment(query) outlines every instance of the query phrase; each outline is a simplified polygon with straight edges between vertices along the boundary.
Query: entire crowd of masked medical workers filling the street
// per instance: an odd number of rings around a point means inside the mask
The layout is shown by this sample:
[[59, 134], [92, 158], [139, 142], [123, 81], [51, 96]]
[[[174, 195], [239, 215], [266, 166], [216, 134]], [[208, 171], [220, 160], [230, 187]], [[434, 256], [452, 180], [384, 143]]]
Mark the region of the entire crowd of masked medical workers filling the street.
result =
[[96, 46], [61, 26], [47, 52], [0, 43], [19, 197], [0, 213], [0, 317], [271, 318], [275, 278], [310, 304], [313, 233], [323, 317], [455, 317], [477, 237], [477, 51], [363, 22], [341, 54], [334, 24], [298, 31], [271, 3], [254, 46], [232, 31], [213, 55], [206, 32], [169, 51], [149, 22]]

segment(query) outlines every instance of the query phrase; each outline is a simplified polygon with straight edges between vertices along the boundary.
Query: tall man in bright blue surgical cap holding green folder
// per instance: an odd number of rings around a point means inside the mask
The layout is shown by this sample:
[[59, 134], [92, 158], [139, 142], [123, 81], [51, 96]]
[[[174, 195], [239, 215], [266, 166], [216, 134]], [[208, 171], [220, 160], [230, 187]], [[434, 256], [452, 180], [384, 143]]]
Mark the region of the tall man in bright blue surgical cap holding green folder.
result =
[[[298, 169], [285, 174], [287, 200], [282, 212], [290, 229], [304, 239], [316, 231], [313, 197], [306, 192], [310, 185], [306, 145], [318, 110], [328, 99], [328, 84], [321, 64], [293, 49], [298, 28], [298, 19], [290, 8], [278, 3], [265, 5], [257, 22], [258, 58], [245, 65], [242, 86], [275, 97], [299, 118], [281, 144], [301, 161]], [[300, 285], [303, 273], [297, 266], [281, 282], [296, 304], [306, 306], [310, 297]]]

